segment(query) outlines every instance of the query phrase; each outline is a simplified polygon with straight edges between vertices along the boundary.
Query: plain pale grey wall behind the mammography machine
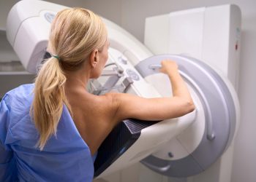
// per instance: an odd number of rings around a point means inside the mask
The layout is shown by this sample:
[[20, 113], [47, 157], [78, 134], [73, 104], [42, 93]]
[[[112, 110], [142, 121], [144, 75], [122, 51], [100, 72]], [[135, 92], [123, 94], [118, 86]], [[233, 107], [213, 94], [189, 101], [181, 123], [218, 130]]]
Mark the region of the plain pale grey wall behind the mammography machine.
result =
[[[242, 44], [240, 84], [241, 124], [236, 137], [232, 182], [256, 181], [256, 1], [255, 0], [52, 0], [69, 7], [86, 7], [112, 20], [143, 41], [144, 21], [148, 16], [161, 15], [181, 9], [237, 4], [242, 12]], [[0, 0], [0, 29], [5, 27], [8, 9], [14, 0]]]

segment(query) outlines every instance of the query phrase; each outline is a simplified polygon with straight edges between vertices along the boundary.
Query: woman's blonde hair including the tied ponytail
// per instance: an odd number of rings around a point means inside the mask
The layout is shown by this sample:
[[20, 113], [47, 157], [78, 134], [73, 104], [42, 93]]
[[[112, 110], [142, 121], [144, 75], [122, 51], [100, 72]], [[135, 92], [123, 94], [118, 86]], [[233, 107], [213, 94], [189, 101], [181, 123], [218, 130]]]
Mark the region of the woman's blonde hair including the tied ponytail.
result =
[[39, 132], [37, 146], [40, 150], [51, 135], [56, 135], [63, 104], [72, 114], [64, 90], [64, 71], [78, 70], [91, 52], [103, 47], [106, 40], [105, 24], [94, 12], [72, 8], [56, 15], [50, 29], [48, 52], [59, 58], [49, 58], [40, 68], [31, 105], [31, 116]]

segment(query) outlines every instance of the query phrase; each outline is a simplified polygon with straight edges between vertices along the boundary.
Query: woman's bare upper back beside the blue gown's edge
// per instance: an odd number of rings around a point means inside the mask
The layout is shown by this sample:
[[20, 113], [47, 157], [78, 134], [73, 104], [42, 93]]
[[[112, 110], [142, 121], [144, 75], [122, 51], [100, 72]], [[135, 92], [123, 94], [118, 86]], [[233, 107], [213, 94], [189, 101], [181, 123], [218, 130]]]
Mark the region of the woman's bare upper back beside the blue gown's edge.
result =
[[75, 126], [94, 154], [115, 126], [113, 98], [110, 95], [92, 95], [78, 87], [67, 89], [66, 94]]

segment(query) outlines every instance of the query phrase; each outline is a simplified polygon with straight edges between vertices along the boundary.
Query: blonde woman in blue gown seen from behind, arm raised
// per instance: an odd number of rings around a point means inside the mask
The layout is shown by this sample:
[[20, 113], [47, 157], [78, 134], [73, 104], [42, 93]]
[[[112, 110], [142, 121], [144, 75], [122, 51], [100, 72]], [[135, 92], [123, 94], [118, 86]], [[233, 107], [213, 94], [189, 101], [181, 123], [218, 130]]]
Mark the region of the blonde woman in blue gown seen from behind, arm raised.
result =
[[160, 71], [169, 76], [173, 97], [87, 92], [89, 79], [102, 73], [108, 47], [105, 25], [93, 12], [73, 8], [56, 15], [48, 43], [52, 57], [34, 84], [11, 90], [1, 101], [0, 181], [92, 181], [97, 149], [118, 122], [194, 110], [178, 66], [169, 60]]

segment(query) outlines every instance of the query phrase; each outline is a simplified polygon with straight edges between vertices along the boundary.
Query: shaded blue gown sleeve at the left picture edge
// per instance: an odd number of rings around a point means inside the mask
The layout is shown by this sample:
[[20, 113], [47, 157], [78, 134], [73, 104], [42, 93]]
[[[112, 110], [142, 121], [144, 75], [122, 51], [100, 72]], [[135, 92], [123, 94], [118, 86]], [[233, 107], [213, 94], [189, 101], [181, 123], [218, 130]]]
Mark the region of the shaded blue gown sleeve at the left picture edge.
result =
[[0, 181], [15, 181], [15, 159], [9, 146], [5, 145], [9, 128], [9, 108], [5, 98], [0, 103]]

